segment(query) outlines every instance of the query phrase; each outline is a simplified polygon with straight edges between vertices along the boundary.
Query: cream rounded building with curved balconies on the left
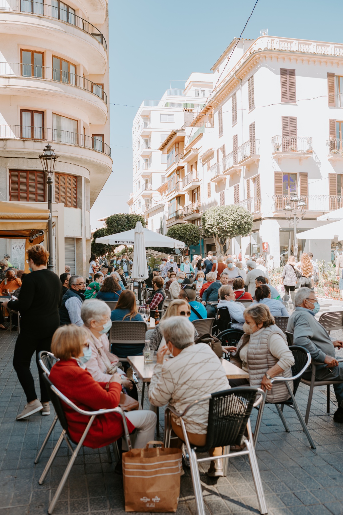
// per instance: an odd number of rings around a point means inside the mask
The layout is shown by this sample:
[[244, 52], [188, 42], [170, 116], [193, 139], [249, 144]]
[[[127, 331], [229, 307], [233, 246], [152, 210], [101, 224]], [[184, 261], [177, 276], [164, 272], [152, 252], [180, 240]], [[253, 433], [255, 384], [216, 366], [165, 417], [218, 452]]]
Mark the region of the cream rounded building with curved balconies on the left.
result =
[[[107, 11], [107, 0], [0, 4], [0, 191], [2, 200], [47, 208], [38, 155], [51, 143], [60, 156], [52, 196], [58, 274], [65, 264], [88, 272], [89, 211], [112, 170]], [[1, 239], [0, 258], [15, 243]]]

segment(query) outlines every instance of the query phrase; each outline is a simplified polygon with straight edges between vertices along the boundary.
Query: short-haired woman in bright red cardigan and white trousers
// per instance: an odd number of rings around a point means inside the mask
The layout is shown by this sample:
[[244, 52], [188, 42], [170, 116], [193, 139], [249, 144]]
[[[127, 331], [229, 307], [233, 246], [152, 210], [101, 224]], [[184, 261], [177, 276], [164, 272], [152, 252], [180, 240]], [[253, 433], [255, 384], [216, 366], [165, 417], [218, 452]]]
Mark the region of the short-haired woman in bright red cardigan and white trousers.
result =
[[[107, 327], [100, 331], [108, 331]], [[52, 337], [51, 352], [60, 359], [53, 365], [49, 379], [70, 401], [86, 411], [116, 408], [119, 405], [121, 376], [113, 374], [108, 383], [97, 383], [86, 370], [92, 351], [87, 344], [87, 331], [77, 325], [62, 325]], [[74, 442], [79, 442], [89, 417], [77, 413], [64, 404], [68, 431]], [[141, 449], [154, 440], [156, 415], [153, 411], [135, 410], [125, 413], [129, 433], [136, 428], [133, 447]], [[86, 447], [97, 449], [123, 436], [122, 420], [117, 413], [95, 417], [84, 440]]]

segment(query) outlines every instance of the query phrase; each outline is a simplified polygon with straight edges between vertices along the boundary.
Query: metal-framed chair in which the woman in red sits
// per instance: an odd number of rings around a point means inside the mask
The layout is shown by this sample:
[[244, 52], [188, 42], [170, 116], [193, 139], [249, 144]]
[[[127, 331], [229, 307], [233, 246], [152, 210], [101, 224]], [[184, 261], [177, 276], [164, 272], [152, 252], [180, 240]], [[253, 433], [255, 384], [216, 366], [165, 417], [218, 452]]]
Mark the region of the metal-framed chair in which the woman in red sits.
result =
[[[53, 499], [50, 503], [50, 506], [48, 508], [48, 513], [52, 513], [53, 512], [53, 509], [55, 508], [56, 506], [56, 503], [57, 501], [59, 500], [59, 497], [61, 495], [61, 492], [63, 490], [63, 487], [65, 485], [65, 482], [66, 480], [68, 479], [68, 475], [70, 473], [70, 470], [71, 468], [73, 467], [74, 465], [74, 462], [76, 460], [76, 457], [83, 445], [83, 442], [88, 434], [88, 431], [89, 429], [91, 428], [92, 424], [93, 424], [93, 421], [95, 419], [95, 417], [97, 417], [98, 415], [104, 415], [106, 413], [118, 413], [121, 418], [122, 418], [122, 422], [123, 422], [123, 427], [124, 427], [124, 438], [127, 442], [127, 445], [128, 445], [128, 449], [129, 451], [131, 451], [132, 449], [132, 445], [131, 445], [131, 440], [130, 440], [130, 434], [129, 434], [129, 431], [128, 431], [128, 425], [127, 425], [127, 421], [126, 421], [126, 418], [125, 418], [125, 415], [124, 415], [124, 412], [122, 411], [121, 408], [117, 407], [117, 408], [110, 408], [110, 409], [99, 409], [97, 411], [85, 411], [84, 409], [81, 409], [79, 408], [78, 406], [76, 406], [76, 404], [74, 404], [73, 402], [71, 402], [65, 395], [63, 395], [63, 393], [61, 393], [57, 388], [56, 386], [54, 386], [51, 381], [49, 380], [48, 378], [48, 375], [47, 373], [44, 373], [43, 374], [43, 378], [44, 378], [44, 381], [47, 385], [47, 387], [50, 389], [50, 395], [51, 395], [51, 402], [53, 404], [53, 407], [55, 408], [55, 411], [57, 413], [57, 416], [58, 416], [58, 419], [62, 425], [62, 433], [60, 435], [60, 438], [58, 439], [58, 442], [57, 444], [55, 445], [55, 448], [53, 449], [52, 453], [51, 453], [51, 456], [46, 464], [46, 467], [43, 471], [43, 474], [41, 475], [40, 477], [40, 480], [39, 480], [39, 484], [42, 485], [43, 482], [44, 482], [44, 479], [47, 475], [47, 473], [49, 472], [50, 468], [51, 468], [51, 465], [53, 463], [53, 460], [55, 459], [60, 447], [61, 447], [61, 444], [63, 442], [63, 440], [65, 440], [67, 442], [67, 445], [71, 451], [71, 457], [69, 459], [69, 462], [68, 462], [68, 465], [64, 471], [64, 474], [62, 476], [62, 479], [60, 481], [60, 484], [59, 486], [57, 487], [57, 490], [55, 492], [55, 495], [53, 496]], [[65, 417], [65, 414], [64, 414], [64, 409], [63, 409], [63, 405], [62, 405], [62, 402], [67, 404], [67, 406], [69, 406], [69, 408], [71, 409], [74, 409], [77, 413], [79, 413], [80, 415], [85, 415], [85, 416], [88, 416], [89, 417], [89, 422], [83, 432], [83, 435], [81, 436], [81, 439], [79, 442], [73, 442], [73, 440], [71, 439], [70, 435], [69, 435], [69, 432], [68, 432], [68, 423], [67, 423], [67, 420], [66, 420], [66, 417]], [[76, 445], [76, 449], [74, 450], [72, 445], [71, 445], [71, 442], [73, 442], [75, 445]], [[111, 456], [111, 451], [110, 451], [110, 447], [109, 445], [107, 445], [106, 447], [107, 449], [107, 455], [109, 456], [109, 461], [110, 463], [112, 463], [112, 456]], [[117, 448], [117, 445], [116, 445], [116, 442], [114, 442], [114, 452], [115, 452], [115, 456], [116, 458], [118, 459], [119, 458], [119, 453], [118, 453], [118, 448]]]

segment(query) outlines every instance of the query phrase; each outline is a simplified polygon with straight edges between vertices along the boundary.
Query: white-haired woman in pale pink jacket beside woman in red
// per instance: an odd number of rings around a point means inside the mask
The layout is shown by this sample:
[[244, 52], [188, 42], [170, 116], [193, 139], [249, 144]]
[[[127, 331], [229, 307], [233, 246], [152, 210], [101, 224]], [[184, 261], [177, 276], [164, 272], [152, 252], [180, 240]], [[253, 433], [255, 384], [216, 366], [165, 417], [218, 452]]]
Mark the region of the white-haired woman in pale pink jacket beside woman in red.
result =
[[[81, 307], [81, 318], [88, 333], [89, 348], [92, 350], [92, 356], [87, 361], [88, 372], [98, 383], [107, 383], [118, 371], [119, 374], [122, 374], [122, 385], [128, 390], [132, 390], [132, 382], [120, 369], [117, 369], [118, 357], [109, 351], [109, 338], [106, 336], [112, 327], [109, 306], [101, 300], [85, 300]], [[133, 397], [138, 399], [137, 394]]]

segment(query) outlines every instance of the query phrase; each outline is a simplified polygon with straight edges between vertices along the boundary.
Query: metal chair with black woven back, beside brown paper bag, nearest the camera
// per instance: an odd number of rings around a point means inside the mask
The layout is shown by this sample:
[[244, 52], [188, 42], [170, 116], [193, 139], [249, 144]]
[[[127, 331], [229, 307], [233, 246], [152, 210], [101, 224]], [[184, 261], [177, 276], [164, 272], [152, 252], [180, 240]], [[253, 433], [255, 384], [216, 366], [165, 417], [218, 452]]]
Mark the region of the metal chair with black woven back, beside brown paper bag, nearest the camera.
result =
[[[255, 401], [257, 394], [259, 394], [259, 398]], [[249, 419], [252, 408], [259, 405], [262, 402], [263, 397], [264, 392], [260, 388], [238, 387], [216, 393], [208, 393], [201, 399], [189, 404], [182, 413], [178, 413], [172, 406], [167, 406], [165, 411], [165, 446], [170, 446], [171, 414], [174, 414], [181, 422], [183, 440], [186, 443], [190, 459], [195, 506], [198, 515], [205, 515], [198, 464], [204, 461], [223, 458], [223, 471], [224, 475], [226, 475], [228, 459], [244, 455], [248, 455], [249, 457], [260, 512], [262, 514], [267, 513], [268, 510], [265, 502]], [[188, 440], [184, 416], [191, 407], [205, 401], [209, 403], [206, 443], [203, 447], [194, 447], [194, 445], [190, 444]], [[246, 428], [248, 431], [248, 437], [244, 435]], [[230, 452], [230, 445], [241, 445], [242, 441], [245, 444], [245, 449], [238, 452]], [[224, 447], [224, 454], [221, 456], [197, 458], [196, 453], [208, 452], [213, 447]]]

